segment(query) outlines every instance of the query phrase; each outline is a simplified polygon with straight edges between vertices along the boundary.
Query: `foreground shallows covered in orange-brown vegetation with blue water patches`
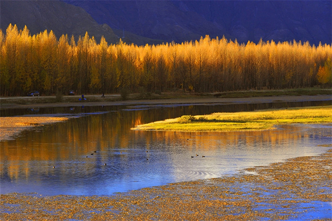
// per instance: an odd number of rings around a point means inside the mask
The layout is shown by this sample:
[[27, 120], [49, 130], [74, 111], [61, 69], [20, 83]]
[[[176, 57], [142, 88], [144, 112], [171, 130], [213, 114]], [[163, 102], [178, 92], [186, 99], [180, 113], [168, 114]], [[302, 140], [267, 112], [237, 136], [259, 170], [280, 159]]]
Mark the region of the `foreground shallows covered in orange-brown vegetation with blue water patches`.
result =
[[[331, 147], [331, 144], [328, 145]], [[1, 220], [331, 220], [332, 150], [114, 196], [1, 195]]]

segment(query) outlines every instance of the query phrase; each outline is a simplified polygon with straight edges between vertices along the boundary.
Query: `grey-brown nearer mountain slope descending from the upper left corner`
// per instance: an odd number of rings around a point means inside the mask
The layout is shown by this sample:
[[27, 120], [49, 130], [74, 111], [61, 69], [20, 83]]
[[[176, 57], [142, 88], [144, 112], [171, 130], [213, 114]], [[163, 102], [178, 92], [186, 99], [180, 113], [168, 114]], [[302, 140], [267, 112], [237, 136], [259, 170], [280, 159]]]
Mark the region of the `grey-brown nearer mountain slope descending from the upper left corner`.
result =
[[[105, 23], [97, 23], [84, 9], [58, 0], [0, 0], [0, 28], [5, 33], [9, 23], [17, 24], [19, 29], [24, 25], [31, 34], [37, 34], [47, 29], [53, 30], [59, 38], [68, 34], [69, 38], [94, 36], [97, 42], [102, 36], [108, 43], [117, 43], [123, 32], [113, 30]], [[119, 36], [118, 36], [119, 34]], [[135, 44], [156, 44], [160, 41], [147, 39], [132, 33], [127, 33], [123, 40]]]

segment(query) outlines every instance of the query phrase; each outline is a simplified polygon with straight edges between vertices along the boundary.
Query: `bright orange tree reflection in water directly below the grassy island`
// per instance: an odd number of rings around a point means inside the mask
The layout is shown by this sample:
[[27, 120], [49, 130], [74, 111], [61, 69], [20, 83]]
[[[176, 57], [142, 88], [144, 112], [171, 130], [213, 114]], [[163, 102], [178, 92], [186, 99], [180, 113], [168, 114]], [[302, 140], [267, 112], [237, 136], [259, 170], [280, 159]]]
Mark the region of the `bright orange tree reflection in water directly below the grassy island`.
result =
[[[238, 132], [171, 132], [171, 131], [135, 131], [135, 136], [145, 136], [149, 140], [159, 140], [172, 145], [173, 141], [181, 142], [182, 146], [195, 150], [197, 146], [208, 150], [213, 148], [223, 148], [224, 146], [236, 146], [239, 142], [248, 145], [255, 144], [262, 147], [267, 143], [276, 146], [285, 140], [292, 140], [293, 144], [303, 138], [308, 138], [310, 134], [299, 133], [300, 127], [285, 125], [282, 129], [261, 130], [261, 131], [238, 131]], [[291, 133], [290, 133], [291, 132]]]

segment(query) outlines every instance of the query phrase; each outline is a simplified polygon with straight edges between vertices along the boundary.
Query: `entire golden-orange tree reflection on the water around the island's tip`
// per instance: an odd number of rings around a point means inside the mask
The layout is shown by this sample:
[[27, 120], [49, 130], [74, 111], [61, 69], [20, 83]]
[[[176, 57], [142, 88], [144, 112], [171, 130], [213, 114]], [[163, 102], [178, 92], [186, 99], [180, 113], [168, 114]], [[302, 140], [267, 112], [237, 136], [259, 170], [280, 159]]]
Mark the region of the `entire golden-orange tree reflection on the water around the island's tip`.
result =
[[[293, 126], [283, 126], [278, 130], [227, 133], [130, 130], [139, 124], [174, 117], [170, 111], [172, 110], [109, 112], [71, 118], [66, 122], [45, 126], [42, 130], [25, 131], [15, 140], [1, 141], [0, 176], [15, 179], [21, 174], [28, 177], [31, 161], [40, 161], [40, 165], [44, 165], [46, 161], [48, 167], [39, 170], [44, 174], [52, 174], [55, 162], [63, 164], [77, 157], [87, 157], [90, 162], [82, 165], [82, 173], [93, 173], [94, 165], [106, 162], [109, 157], [107, 154], [98, 155], [98, 152], [120, 154], [121, 149], [138, 144], [145, 145], [146, 150], [151, 149], [157, 142], [166, 146], [185, 147], [194, 152], [198, 146], [213, 151], [224, 147], [236, 148], [243, 143], [245, 146], [254, 145], [257, 148], [264, 148], [266, 144], [272, 147], [281, 143], [294, 145], [311, 136], [310, 133], [301, 132], [301, 127]], [[94, 151], [97, 153], [92, 156]], [[120, 155], [119, 158], [123, 161], [130, 160], [128, 155]]]

